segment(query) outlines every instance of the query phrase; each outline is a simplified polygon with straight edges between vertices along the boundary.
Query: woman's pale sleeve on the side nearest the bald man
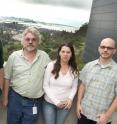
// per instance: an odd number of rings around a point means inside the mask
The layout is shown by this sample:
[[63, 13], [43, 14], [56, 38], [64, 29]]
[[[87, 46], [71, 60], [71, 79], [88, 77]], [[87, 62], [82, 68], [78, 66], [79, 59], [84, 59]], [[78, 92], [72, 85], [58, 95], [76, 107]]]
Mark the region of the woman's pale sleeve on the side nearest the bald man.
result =
[[78, 77], [74, 78], [74, 80], [73, 80], [73, 85], [71, 87], [71, 92], [70, 92], [70, 95], [69, 95], [69, 98], [71, 100], [73, 100], [73, 98], [74, 98], [74, 96], [76, 94], [77, 87], [78, 87]]

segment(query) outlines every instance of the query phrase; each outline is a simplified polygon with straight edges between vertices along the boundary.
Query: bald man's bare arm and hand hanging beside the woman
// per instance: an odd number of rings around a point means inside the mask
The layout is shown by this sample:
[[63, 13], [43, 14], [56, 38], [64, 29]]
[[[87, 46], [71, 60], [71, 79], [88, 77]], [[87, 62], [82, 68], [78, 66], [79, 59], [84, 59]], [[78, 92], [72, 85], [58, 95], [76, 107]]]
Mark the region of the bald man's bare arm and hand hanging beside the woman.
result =
[[77, 116], [78, 118], [81, 118], [81, 113], [83, 113], [82, 107], [81, 107], [81, 101], [85, 93], [85, 85], [81, 82], [78, 90], [78, 98], [77, 98]]

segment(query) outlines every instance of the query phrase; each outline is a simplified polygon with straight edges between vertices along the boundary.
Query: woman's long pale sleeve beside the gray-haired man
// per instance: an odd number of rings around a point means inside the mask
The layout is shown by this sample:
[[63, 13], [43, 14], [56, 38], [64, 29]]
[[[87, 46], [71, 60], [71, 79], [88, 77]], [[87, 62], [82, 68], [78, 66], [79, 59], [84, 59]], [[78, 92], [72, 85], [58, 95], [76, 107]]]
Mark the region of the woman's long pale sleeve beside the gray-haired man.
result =
[[53, 62], [49, 63], [46, 71], [45, 71], [45, 75], [44, 75], [44, 83], [43, 83], [43, 89], [45, 94], [51, 99], [51, 101], [57, 105], [60, 101], [57, 100], [51, 90], [50, 87], [50, 78], [51, 78], [51, 71], [53, 69]]

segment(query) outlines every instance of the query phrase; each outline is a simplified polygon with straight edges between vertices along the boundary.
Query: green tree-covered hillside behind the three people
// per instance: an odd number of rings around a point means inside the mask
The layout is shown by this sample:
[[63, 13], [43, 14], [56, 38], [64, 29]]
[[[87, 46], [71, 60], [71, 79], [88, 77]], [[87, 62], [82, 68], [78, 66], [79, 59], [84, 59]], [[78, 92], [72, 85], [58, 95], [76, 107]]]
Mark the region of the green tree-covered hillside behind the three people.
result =
[[[65, 42], [73, 43], [75, 47], [76, 60], [79, 68], [83, 66], [82, 54], [85, 44], [85, 36], [87, 31], [87, 23], [82, 25], [79, 30], [75, 33], [66, 31], [52, 31], [52, 30], [41, 30], [42, 43], [39, 45], [39, 49], [46, 51], [51, 59], [56, 58], [57, 49], [60, 44]], [[19, 41], [12, 38], [10, 31], [0, 30], [0, 38], [3, 43], [4, 59], [7, 61], [8, 56], [15, 50], [22, 48]]]

